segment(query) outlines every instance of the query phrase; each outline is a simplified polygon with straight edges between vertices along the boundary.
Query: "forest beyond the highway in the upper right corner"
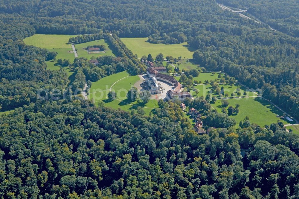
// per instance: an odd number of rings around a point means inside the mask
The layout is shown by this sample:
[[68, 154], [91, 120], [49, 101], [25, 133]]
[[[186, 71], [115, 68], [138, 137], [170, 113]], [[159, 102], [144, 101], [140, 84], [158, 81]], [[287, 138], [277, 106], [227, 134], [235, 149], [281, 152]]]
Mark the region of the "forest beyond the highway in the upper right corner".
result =
[[274, 29], [299, 37], [298, 0], [218, 0], [217, 2], [245, 9]]

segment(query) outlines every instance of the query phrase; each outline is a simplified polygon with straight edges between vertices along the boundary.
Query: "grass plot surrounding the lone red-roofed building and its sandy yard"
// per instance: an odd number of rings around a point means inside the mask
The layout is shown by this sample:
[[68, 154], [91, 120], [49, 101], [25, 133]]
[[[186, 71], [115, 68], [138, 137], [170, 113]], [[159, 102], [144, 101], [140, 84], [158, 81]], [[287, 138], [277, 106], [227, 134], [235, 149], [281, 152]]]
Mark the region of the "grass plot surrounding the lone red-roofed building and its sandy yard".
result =
[[[89, 54], [84, 48], [86, 48], [87, 46], [93, 46], [93, 45], [105, 45], [106, 49], [105, 49], [105, 53], [93, 53], [93, 54]], [[82, 43], [82, 44], [76, 44], [75, 48], [77, 49], [77, 53], [79, 57], [85, 57], [87, 59], [91, 59], [91, 57], [99, 57], [99, 56], [103, 56], [103, 55], [113, 55], [115, 56], [115, 54], [113, 54], [112, 50], [109, 49], [108, 44], [105, 42], [104, 39], [100, 39], [100, 40], [95, 40], [95, 41], [91, 41], [91, 42], [86, 42], [86, 43]]]

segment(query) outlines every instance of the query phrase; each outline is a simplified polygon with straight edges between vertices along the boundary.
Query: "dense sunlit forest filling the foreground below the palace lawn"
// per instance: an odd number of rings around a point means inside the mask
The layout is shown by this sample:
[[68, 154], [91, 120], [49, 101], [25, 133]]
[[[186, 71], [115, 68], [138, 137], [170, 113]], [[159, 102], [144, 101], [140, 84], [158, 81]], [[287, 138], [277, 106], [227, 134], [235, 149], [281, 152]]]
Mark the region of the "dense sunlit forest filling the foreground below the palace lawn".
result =
[[38, 101], [0, 116], [0, 195], [298, 197], [297, 135], [245, 119], [201, 136], [187, 120], [171, 121], [179, 105], [164, 103], [147, 117], [84, 100]]

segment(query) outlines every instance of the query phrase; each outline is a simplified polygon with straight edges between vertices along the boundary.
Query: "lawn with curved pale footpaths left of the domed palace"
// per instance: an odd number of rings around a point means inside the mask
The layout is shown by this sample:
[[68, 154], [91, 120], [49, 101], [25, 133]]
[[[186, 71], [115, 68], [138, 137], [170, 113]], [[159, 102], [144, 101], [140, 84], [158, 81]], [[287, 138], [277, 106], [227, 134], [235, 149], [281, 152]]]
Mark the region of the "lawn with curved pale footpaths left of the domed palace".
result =
[[[144, 107], [144, 111], [146, 112], [146, 114], [149, 114], [149, 112], [153, 112], [155, 108], [158, 108], [157, 100], [150, 100], [147, 104], [143, 104], [142, 102], [132, 102], [126, 99], [128, 90], [135, 84], [135, 82], [139, 80], [139, 77], [137, 75], [129, 75], [130, 74], [128, 71], [123, 71], [104, 77], [97, 82], [93, 82], [89, 91], [88, 98], [93, 100], [96, 105], [98, 105], [98, 102], [103, 101], [105, 103], [105, 106], [115, 109], [121, 108], [122, 110], [130, 111], [140, 106]], [[115, 100], [109, 101], [107, 95], [111, 86], [112, 90], [115, 91], [117, 97]]]

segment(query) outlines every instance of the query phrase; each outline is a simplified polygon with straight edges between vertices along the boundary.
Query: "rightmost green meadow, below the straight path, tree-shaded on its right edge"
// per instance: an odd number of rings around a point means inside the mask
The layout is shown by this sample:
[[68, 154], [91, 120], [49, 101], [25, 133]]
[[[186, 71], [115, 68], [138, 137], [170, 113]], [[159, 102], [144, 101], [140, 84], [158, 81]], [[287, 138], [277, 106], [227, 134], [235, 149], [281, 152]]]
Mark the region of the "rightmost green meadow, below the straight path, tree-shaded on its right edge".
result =
[[[256, 123], [260, 126], [266, 124], [270, 125], [271, 123], [277, 123], [279, 118], [276, 115], [283, 115], [283, 112], [279, 111], [272, 104], [266, 100], [260, 100], [257, 98], [234, 98], [228, 99], [228, 106], [235, 106], [239, 104], [239, 113], [237, 115], [232, 115], [230, 117], [234, 118], [237, 121], [237, 125], [241, 120], [244, 120], [246, 116], [249, 117], [251, 123]], [[215, 104], [212, 104], [212, 107], [217, 109], [218, 112], [221, 112], [221, 100], [217, 100]], [[226, 107], [228, 108], [228, 107]], [[280, 120], [283, 124], [289, 124], [286, 120]]]

